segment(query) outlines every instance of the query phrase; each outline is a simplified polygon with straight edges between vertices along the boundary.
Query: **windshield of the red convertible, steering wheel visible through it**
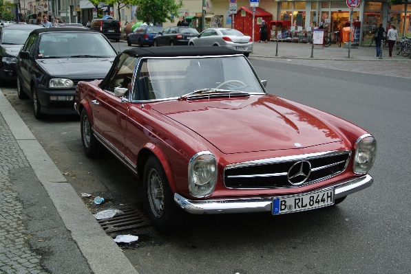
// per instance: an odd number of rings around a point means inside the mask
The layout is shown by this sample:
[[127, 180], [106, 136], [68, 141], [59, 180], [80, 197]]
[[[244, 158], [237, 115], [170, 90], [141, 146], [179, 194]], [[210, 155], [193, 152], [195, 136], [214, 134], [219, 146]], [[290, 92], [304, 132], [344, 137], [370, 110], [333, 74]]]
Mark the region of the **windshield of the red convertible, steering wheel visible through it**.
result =
[[200, 89], [264, 93], [244, 56], [144, 58], [133, 100], [178, 98]]

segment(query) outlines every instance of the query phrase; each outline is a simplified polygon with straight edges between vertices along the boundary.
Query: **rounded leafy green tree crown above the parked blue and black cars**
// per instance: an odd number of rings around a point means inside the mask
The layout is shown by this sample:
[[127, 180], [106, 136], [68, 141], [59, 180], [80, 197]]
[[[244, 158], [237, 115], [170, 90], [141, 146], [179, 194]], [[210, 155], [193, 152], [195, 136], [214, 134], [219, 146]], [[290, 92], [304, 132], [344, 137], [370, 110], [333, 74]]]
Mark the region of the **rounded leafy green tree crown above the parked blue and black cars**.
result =
[[145, 23], [164, 23], [167, 19], [171, 20], [171, 14], [178, 14], [182, 8], [182, 0], [134, 0], [137, 20]]

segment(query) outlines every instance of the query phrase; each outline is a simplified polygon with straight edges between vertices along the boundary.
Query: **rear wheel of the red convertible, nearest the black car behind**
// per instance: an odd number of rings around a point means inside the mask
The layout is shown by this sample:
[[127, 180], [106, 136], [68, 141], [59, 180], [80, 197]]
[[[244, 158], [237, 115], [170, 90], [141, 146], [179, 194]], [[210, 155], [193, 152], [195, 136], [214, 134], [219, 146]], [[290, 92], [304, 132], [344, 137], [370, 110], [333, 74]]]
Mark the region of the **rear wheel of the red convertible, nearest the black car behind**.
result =
[[96, 158], [103, 152], [103, 146], [96, 139], [92, 132], [92, 125], [90, 124], [89, 115], [87, 111], [83, 109], [80, 117], [80, 130], [81, 130], [81, 143], [83, 144], [83, 150], [87, 157]]

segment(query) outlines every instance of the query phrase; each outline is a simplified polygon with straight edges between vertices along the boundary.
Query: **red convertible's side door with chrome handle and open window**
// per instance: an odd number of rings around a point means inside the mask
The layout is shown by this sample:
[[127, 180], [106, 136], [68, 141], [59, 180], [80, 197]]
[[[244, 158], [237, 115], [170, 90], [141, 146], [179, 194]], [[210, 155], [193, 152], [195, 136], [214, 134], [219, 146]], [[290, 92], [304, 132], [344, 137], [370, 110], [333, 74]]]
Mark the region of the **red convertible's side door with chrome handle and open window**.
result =
[[95, 99], [90, 98], [92, 99], [90, 106], [94, 118], [94, 130], [103, 137], [108, 146], [120, 157], [125, 154], [124, 142], [129, 92], [120, 98], [114, 95], [114, 88], [129, 88], [136, 60], [137, 58], [134, 56], [122, 54], [104, 89], [96, 93]]

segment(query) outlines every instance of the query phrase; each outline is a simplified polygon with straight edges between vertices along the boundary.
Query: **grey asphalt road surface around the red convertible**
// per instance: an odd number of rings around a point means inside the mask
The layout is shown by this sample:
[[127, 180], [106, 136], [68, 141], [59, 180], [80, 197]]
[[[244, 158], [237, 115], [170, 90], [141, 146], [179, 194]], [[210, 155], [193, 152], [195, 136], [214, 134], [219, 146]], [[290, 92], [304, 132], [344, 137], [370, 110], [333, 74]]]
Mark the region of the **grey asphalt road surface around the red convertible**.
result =
[[[192, 216], [168, 237], [151, 227], [120, 231], [143, 241], [124, 249], [131, 264], [140, 274], [409, 273], [409, 78], [250, 60], [270, 93], [328, 111], [377, 138], [374, 185], [310, 212]], [[100, 195], [112, 205], [142, 201], [140, 183], [114, 157], [85, 157], [78, 117], [37, 121], [14, 85], [1, 90], [79, 195]]]

